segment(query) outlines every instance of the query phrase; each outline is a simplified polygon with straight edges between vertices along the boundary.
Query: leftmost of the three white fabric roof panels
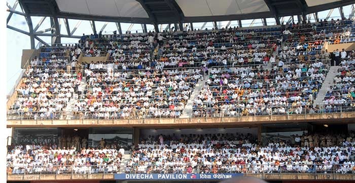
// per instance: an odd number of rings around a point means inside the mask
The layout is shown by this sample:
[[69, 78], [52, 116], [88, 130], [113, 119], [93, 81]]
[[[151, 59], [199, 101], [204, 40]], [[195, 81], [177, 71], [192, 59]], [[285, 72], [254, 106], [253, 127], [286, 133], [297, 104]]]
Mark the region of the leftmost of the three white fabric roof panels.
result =
[[111, 17], [149, 18], [135, 0], [56, 0], [61, 12]]

